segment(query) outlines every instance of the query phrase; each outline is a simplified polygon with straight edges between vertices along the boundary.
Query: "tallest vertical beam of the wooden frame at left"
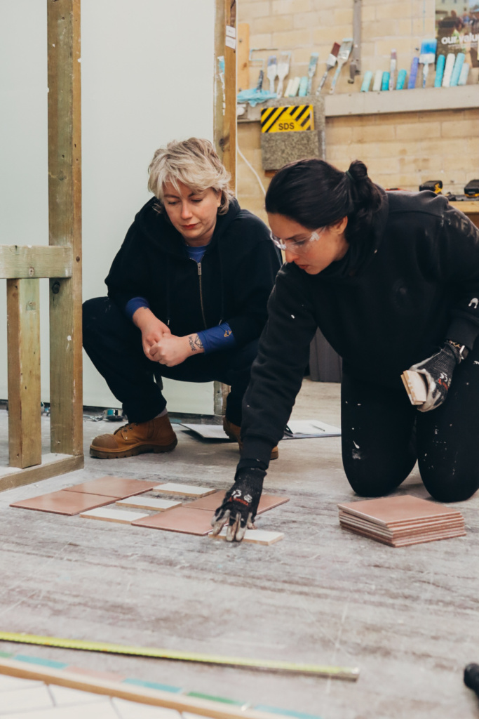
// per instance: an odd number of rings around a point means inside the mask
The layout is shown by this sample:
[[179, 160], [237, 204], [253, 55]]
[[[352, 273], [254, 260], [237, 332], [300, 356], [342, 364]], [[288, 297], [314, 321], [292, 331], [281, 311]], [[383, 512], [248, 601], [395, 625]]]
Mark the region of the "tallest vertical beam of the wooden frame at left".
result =
[[50, 245], [73, 252], [50, 280], [51, 449], [82, 454], [80, 0], [47, 0], [47, 46]]

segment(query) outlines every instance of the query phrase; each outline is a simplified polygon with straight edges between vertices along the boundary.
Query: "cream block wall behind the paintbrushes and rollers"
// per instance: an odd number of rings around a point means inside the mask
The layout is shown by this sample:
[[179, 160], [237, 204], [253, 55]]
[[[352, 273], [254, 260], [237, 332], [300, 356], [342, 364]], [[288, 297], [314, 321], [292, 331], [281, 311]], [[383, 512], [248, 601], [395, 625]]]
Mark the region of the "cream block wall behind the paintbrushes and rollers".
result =
[[[434, 37], [434, 12], [435, 0], [363, 0], [363, 72], [388, 70], [391, 49], [396, 48], [398, 69], [409, 74], [415, 48], [424, 38]], [[306, 75], [311, 52], [319, 52], [314, 93], [332, 43], [353, 35], [353, 0], [340, 4], [338, 0], [239, 0], [238, 22], [249, 24], [254, 59], [267, 60], [281, 50], [292, 52], [289, 77]], [[478, 71], [473, 68], [470, 83], [477, 85]], [[256, 85], [258, 73], [259, 66], [251, 65], [250, 86]], [[359, 91], [361, 75], [354, 84], [348, 83], [348, 77], [349, 65], [345, 65], [336, 93]], [[325, 93], [331, 78], [332, 72]], [[429, 71], [428, 86], [433, 78]], [[261, 168], [258, 122], [238, 125], [238, 146], [266, 188], [269, 178]], [[442, 179], [445, 191], [461, 192], [479, 174], [479, 109], [330, 117], [326, 157], [341, 169], [358, 157], [368, 165], [371, 178], [384, 187], [417, 191], [424, 180]], [[238, 198], [244, 207], [265, 216], [258, 180], [241, 157]]]

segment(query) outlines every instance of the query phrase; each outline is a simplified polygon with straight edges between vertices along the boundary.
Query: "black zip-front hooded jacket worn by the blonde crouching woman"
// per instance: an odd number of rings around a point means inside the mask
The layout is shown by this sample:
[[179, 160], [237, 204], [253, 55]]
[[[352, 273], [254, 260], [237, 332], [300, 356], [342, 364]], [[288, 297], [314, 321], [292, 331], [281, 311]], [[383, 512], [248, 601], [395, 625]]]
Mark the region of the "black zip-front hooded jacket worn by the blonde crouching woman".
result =
[[144, 205], [126, 234], [105, 280], [108, 296], [122, 310], [144, 297], [177, 336], [225, 321], [238, 347], [259, 337], [280, 266], [264, 222], [232, 199], [197, 263], [156, 203], [152, 198]]

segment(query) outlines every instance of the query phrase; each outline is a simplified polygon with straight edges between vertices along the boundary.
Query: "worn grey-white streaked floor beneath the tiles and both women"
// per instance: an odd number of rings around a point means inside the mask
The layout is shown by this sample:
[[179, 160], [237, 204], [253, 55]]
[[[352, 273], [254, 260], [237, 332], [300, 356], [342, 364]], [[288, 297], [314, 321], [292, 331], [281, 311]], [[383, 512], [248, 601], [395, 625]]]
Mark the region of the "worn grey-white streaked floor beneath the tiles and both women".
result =
[[[339, 385], [305, 379], [292, 417], [339, 423]], [[47, 436], [48, 418], [42, 423]], [[265, 487], [290, 501], [259, 521], [284, 531], [272, 546], [9, 508], [104, 475], [231, 485], [236, 445], [207, 444], [182, 430], [172, 454], [90, 458], [90, 439], [117, 426], [85, 420], [84, 470], [0, 495], [0, 631], [357, 666], [358, 682], [5, 642], [1, 651], [323, 719], [479, 716], [462, 683], [465, 664], [479, 662], [479, 495], [455, 505], [468, 530], [460, 539], [393, 549], [348, 533], [337, 505], [355, 497], [340, 439], [331, 438], [281, 442]], [[6, 464], [5, 411], [0, 438]], [[417, 470], [400, 491], [427, 497]]]

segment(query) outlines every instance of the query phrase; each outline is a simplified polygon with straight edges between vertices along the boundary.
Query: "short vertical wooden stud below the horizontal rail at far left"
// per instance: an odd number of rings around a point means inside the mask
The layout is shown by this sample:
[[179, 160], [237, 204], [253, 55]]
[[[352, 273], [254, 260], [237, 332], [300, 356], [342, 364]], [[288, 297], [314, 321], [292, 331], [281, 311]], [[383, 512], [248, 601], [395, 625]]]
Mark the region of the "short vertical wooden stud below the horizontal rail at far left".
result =
[[9, 464], [42, 461], [39, 280], [6, 281]]

